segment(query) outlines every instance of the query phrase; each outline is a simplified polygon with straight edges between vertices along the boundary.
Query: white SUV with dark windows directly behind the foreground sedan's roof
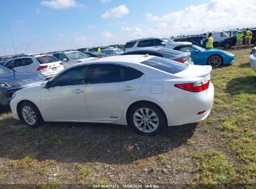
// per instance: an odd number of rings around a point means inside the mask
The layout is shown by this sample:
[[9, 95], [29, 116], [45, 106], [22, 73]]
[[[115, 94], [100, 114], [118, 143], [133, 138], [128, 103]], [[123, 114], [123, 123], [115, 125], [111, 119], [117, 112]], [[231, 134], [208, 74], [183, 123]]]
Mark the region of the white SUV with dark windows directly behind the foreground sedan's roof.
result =
[[174, 40], [168, 39], [167, 37], [151, 37], [146, 39], [136, 39], [127, 42], [125, 45], [125, 51], [133, 50], [141, 47], [163, 47], [175, 48], [179, 45], [191, 45], [190, 42], [174, 42]]

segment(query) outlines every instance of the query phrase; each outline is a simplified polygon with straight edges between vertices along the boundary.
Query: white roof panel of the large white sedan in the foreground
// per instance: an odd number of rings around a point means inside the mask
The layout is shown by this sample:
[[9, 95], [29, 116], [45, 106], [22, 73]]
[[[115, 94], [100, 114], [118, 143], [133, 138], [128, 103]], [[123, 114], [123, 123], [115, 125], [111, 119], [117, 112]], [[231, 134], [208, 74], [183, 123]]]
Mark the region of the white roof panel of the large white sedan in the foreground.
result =
[[[97, 60], [91, 60], [87, 62], [78, 63], [79, 65], [88, 64], [88, 63], [135, 63], [140, 64], [141, 62], [144, 62], [150, 58], [153, 58], [154, 56], [151, 55], [123, 55], [123, 56], [110, 56], [110, 57], [104, 57]], [[76, 65], [78, 65], [76, 64]]]

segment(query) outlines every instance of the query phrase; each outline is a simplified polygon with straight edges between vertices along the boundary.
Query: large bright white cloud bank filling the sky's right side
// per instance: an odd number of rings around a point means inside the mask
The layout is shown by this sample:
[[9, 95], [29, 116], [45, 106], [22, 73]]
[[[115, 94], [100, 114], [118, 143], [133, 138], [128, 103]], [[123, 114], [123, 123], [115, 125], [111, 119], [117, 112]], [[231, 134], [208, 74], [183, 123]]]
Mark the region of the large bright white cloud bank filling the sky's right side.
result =
[[183, 11], [169, 12], [163, 16], [147, 13], [145, 17], [148, 21], [159, 22], [156, 25], [159, 34], [177, 35], [180, 32], [192, 34], [201, 32], [202, 29], [204, 31], [227, 29], [228, 25], [233, 28], [254, 26], [254, 15], [245, 14], [245, 12], [255, 12], [255, 7], [255, 0], [248, 0], [246, 3], [244, 1], [234, 3], [233, 0], [211, 0], [208, 4], [189, 6]]

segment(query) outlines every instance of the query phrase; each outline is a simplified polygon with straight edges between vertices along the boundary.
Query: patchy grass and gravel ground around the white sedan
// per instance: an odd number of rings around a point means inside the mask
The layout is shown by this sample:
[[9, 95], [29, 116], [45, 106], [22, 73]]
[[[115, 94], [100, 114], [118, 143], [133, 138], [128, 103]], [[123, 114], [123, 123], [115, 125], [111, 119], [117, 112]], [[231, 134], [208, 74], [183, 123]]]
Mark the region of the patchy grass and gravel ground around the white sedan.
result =
[[30, 128], [7, 109], [0, 114], [0, 183], [255, 187], [256, 73], [249, 49], [229, 51], [236, 56], [233, 65], [212, 71], [215, 99], [209, 117], [155, 137], [108, 124]]

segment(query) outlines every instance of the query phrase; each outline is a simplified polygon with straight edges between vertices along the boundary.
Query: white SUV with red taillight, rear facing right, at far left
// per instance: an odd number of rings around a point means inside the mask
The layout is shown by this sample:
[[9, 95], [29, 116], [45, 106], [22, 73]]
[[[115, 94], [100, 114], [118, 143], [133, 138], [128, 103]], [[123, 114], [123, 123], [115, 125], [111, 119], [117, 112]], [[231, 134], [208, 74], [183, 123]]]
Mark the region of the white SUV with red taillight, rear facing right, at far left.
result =
[[33, 57], [18, 57], [4, 63], [4, 66], [17, 72], [38, 73], [49, 79], [64, 70], [62, 62], [53, 55], [35, 55]]

